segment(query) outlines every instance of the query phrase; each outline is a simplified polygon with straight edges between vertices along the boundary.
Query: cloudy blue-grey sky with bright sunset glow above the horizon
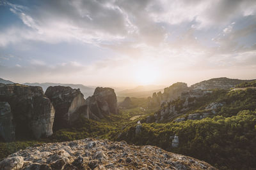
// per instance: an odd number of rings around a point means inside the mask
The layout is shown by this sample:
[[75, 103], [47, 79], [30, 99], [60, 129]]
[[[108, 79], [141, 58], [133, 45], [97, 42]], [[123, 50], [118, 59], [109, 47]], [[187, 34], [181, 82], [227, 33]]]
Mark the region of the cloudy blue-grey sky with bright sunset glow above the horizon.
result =
[[111, 87], [256, 78], [255, 0], [0, 0], [0, 78]]

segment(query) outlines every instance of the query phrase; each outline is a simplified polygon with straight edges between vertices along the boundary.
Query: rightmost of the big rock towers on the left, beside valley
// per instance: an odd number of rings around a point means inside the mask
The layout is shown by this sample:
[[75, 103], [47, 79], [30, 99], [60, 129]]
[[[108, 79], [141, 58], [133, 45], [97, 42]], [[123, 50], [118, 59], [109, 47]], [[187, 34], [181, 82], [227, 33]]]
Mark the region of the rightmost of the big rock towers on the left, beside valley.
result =
[[97, 87], [93, 96], [86, 99], [86, 106], [88, 106], [89, 117], [95, 120], [111, 113], [118, 113], [115, 90]]

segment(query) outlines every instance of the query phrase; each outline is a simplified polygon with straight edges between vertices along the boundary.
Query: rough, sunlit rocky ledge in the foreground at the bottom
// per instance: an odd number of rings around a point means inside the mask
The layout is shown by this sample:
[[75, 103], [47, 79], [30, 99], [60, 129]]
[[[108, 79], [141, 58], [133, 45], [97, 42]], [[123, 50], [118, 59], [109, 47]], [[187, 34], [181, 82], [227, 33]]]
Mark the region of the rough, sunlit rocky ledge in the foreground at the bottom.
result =
[[28, 147], [2, 160], [0, 167], [49, 170], [216, 169], [206, 162], [166, 152], [156, 146], [131, 146], [125, 141], [111, 142], [91, 138]]

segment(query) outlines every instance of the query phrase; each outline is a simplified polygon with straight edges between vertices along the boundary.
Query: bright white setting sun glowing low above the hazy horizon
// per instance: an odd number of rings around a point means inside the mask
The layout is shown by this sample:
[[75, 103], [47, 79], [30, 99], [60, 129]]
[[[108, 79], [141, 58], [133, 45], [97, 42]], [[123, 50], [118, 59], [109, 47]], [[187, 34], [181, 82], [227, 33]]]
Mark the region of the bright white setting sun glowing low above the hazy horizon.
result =
[[140, 66], [135, 72], [136, 81], [138, 81], [140, 85], [149, 85], [154, 83], [157, 76], [158, 71], [154, 69], [154, 67], [149, 66]]

